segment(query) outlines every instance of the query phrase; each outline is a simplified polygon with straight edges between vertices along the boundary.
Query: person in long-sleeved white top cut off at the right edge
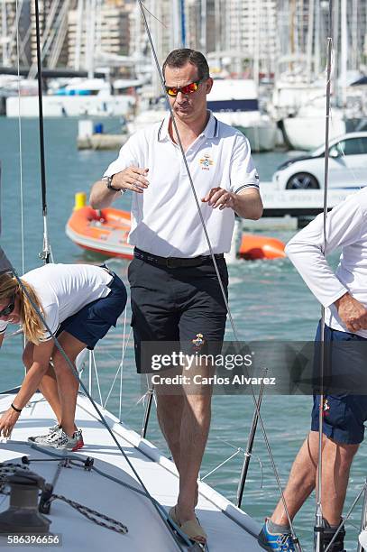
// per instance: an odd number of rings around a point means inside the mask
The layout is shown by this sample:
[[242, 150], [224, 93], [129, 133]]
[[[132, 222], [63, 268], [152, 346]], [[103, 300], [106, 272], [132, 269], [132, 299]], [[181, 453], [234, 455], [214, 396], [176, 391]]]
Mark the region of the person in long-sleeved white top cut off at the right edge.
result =
[[[337, 248], [341, 248], [342, 254], [336, 271], [333, 271], [326, 256]], [[338, 364], [353, 374], [353, 370], [354, 373], [360, 368], [365, 370], [366, 365], [365, 346], [362, 344], [367, 345], [367, 188], [346, 198], [327, 215], [324, 249], [324, 216], [319, 215], [290, 240], [286, 253], [308, 288], [326, 308], [325, 341], [335, 344], [332, 372], [333, 366]], [[319, 324], [316, 341], [321, 340], [320, 329]], [[342, 346], [344, 343], [347, 344], [345, 347]], [[340, 358], [336, 354], [343, 356]], [[366, 390], [361, 395], [347, 391], [335, 395], [326, 391], [323, 403], [325, 547], [341, 523], [350, 467], [363, 440], [367, 420]], [[316, 486], [318, 413], [319, 396], [315, 396], [311, 431], [298, 452], [284, 492], [291, 519]], [[344, 534], [343, 527], [329, 548], [331, 552], [344, 550]], [[294, 550], [282, 501], [261, 529], [259, 542], [267, 550], [283, 549], [277, 548], [279, 542]]]

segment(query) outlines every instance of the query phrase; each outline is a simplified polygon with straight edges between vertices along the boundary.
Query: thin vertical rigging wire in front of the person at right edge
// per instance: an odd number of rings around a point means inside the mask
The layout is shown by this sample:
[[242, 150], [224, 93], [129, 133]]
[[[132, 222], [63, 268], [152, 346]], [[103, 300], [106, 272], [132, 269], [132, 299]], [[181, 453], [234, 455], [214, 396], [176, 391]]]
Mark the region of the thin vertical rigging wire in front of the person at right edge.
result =
[[[333, 0], [329, 0], [329, 25], [327, 37], [327, 67], [326, 67], [326, 129], [325, 129], [325, 174], [324, 174], [324, 253], [326, 252], [326, 218], [327, 218], [327, 184], [329, 170], [329, 126], [330, 126], [330, 95], [331, 95], [331, 64], [333, 53]], [[320, 346], [320, 383], [318, 406], [318, 459], [316, 486], [316, 514], [314, 527], [314, 548], [316, 552], [323, 550], [323, 511], [322, 511], [322, 455], [323, 455], [323, 413], [324, 413], [324, 362], [325, 362], [325, 308], [321, 307], [321, 346]]]

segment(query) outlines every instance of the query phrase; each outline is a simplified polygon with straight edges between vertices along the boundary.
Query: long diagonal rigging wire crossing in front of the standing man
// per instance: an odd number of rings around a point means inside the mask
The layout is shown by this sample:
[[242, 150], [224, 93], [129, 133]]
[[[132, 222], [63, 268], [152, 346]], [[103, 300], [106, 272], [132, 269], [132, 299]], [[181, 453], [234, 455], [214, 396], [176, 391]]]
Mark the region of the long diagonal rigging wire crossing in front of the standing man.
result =
[[[177, 124], [176, 124], [175, 115], [173, 113], [172, 107], [170, 106], [170, 101], [169, 101], [169, 98], [168, 98], [168, 95], [167, 95], [167, 92], [166, 92], [166, 88], [165, 88], [165, 85], [164, 85], [164, 78], [163, 78], [163, 75], [162, 75], [162, 72], [161, 72], [160, 63], [158, 61], [157, 53], [155, 51], [154, 44], [153, 44], [153, 41], [151, 39], [151, 32], [150, 32], [149, 25], [147, 23], [145, 12], [144, 12], [144, 10], [146, 8], [142, 4], [142, 0], [138, 0], [138, 2], [139, 2], [139, 5], [140, 5], [140, 8], [141, 8], [142, 20], [143, 20], [143, 23], [144, 23], [145, 30], [147, 32], [148, 41], [149, 41], [150, 46], [151, 46], [151, 53], [153, 55], [153, 59], [154, 59], [155, 65], [156, 65], [156, 69], [158, 71], [158, 74], [159, 74], [159, 77], [160, 77], [160, 80], [161, 80], [161, 87], [162, 87], [164, 96], [166, 97], [167, 103], [168, 103], [168, 106], [169, 106], [170, 117], [171, 117], [172, 124], [173, 124], [174, 130], [175, 130], [176, 136], [177, 136], [177, 141], [178, 141], [178, 144], [179, 144], [179, 150], [181, 152], [182, 160], [184, 162], [185, 169], [187, 170], [190, 187], [191, 187], [192, 193], [194, 195], [195, 202], [197, 204], [198, 216], [200, 218], [201, 225], [203, 226], [203, 231], [204, 231], [204, 234], [206, 236], [206, 243], [208, 245], [210, 256], [212, 257], [212, 261], [213, 261], [215, 269], [216, 269], [216, 277], [218, 279], [219, 286], [220, 286], [220, 289], [222, 291], [223, 299], [225, 300], [225, 306], [226, 306], [227, 311], [228, 311], [228, 317], [230, 319], [231, 327], [232, 327], [232, 330], [233, 330], [233, 333], [234, 333], [234, 339], [237, 343], [239, 343], [240, 340], [239, 340], [239, 337], [237, 335], [237, 331], [234, 327], [234, 319], [232, 317], [231, 310], [229, 308], [228, 301], [227, 301], [226, 296], [225, 296], [225, 289], [224, 289], [223, 282], [222, 282], [222, 279], [221, 279], [221, 276], [220, 276], [220, 273], [218, 271], [218, 267], [217, 267], [217, 264], [216, 264], [216, 257], [215, 257], [215, 254], [213, 252], [213, 248], [212, 248], [212, 245], [211, 245], [211, 242], [210, 242], [209, 235], [207, 234], [206, 224], [205, 224], [204, 217], [203, 217], [203, 214], [202, 214], [201, 209], [200, 209], [200, 204], [199, 204], [198, 199], [197, 199], [197, 192], [196, 192], [194, 182], [193, 182], [193, 179], [192, 179], [192, 176], [191, 176], [191, 171], [188, 168], [188, 161], [186, 159], [185, 151], [183, 149], [183, 145], [182, 145], [182, 142], [181, 142], [181, 139], [180, 139], [180, 136], [179, 136], [179, 129], [178, 129]], [[254, 404], [254, 407], [255, 407], [255, 410], [256, 410], [260, 425], [261, 425], [261, 431], [262, 431], [262, 435], [263, 435], [263, 438], [264, 438], [265, 446], [267, 448], [267, 452], [268, 452], [268, 455], [269, 455], [269, 458], [270, 458], [270, 461], [271, 461], [271, 468], [272, 468], [272, 471], [274, 473], [276, 483], [277, 483], [277, 486], [278, 486], [278, 489], [279, 489], [279, 492], [280, 492], [280, 498], [281, 498], [281, 501], [283, 503], [284, 511], [286, 512], [287, 519], [289, 521], [289, 528], [290, 528], [292, 540], [293, 540], [294, 544], [300, 549], [298, 538], [296, 537], [296, 534], [295, 534], [295, 531], [294, 531], [294, 528], [293, 528], [293, 523], [292, 523], [292, 520], [290, 519], [290, 516], [289, 516], [289, 510], [288, 510], [287, 502], [285, 501], [283, 490], [282, 490], [282, 487], [281, 487], [280, 475], [278, 473], [277, 466], [275, 465], [275, 460], [274, 460], [274, 456], [271, 452], [271, 445], [270, 445], [270, 442], [269, 442], [269, 438], [267, 436], [267, 432], [265, 430], [265, 426], [264, 426], [262, 418], [261, 418], [260, 409], [258, 407], [255, 392], [253, 391], [253, 386], [252, 385], [250, 385], [250, 389], [251, 389], [251, 393], [252, 393], [253, 404]]]

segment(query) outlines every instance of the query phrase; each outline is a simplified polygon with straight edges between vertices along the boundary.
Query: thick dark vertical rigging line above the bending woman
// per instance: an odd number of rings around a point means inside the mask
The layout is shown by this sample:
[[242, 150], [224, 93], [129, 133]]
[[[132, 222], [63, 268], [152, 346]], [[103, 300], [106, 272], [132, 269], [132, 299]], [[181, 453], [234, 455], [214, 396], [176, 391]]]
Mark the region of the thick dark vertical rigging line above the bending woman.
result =
[[47, 264], [50, 262], [50, 242], [47, 227], [47, 201], [46, 201], [46, 168], [44, 159], [44, 133], [43, 133], [43, 106], [42, 106], [42, 66], [41, 66], [41, 33], [40, 33], [40, 11], [38, 0], [34, 0], [36, 20], [36, 42], [37, 42], [37, 81], [38, 81], [38, 108], [39, 108], [39, 133], [40, 133], [40, 161], [41, 161], [41, 193], [42, 193], [42, 217], [43, 217], [43, 249], [40, 258]]

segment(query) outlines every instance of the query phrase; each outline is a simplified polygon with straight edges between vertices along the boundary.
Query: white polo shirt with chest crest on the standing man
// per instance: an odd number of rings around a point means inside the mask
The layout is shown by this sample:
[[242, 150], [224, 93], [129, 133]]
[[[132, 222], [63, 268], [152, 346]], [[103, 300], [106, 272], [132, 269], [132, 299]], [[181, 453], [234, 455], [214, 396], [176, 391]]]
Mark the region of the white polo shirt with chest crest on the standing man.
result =
[[[130, 244], [161, 257], [208, 255], [188, 173], [179, 146], [170, 139], [169, 122], [170, 115], [133, 134], [104, 176], [132, 165], [149, 169], [148, 189], [142, 194], [133, 192]], [[213, 209], [201, 198], [217, 186], [234, 193], [259, 188], [250, 144], [243, 133], [210, 113], [206, 128], [188, 148], [186, 159], [213, 251], [229, 252], [233, 209]]]

